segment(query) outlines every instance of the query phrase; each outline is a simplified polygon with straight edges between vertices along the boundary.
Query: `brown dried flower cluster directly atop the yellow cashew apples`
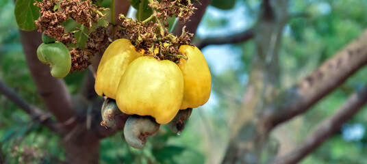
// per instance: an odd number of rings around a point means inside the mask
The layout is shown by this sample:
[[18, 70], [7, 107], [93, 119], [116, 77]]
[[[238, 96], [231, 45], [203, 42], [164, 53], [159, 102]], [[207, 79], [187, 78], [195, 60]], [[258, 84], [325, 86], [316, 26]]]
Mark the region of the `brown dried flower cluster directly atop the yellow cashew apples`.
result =
[[121, 15], [120, 18], [123, 19], [123, 23], [121, 29], [118, 30], [117, 38], [131, 40], [137, 51], [143, 49], [145, 55], [151, 55], [156, 59], [168, 59], [177, 62], [179, 58], [186, 58], [184, 54], [179, 52], [179, 46], [190, 44], [190, 38], [192, 38], [193, 34], [185, 32], [185, 29], [183, 29], [179, 37], [167, 33], [167, 18], [177, 16], [179, 20], [186, 21], [196, 8], [192, 7], [190, 0], [152, 2], [149, 4], [149, 7], [155, 11], [153, 14], [155, 14], [157, 21], [142, 23], [142, 21]]

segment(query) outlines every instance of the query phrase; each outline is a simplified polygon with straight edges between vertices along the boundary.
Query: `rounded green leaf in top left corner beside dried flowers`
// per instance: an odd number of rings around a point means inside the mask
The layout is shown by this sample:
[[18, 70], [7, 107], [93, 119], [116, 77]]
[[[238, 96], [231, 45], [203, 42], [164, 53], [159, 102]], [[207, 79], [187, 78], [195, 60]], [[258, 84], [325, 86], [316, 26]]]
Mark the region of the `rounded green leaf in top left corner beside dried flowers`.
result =
[[15, 3], [14, 14], [19, 28], [31, 31], [37, 28], [34, 20], [40, 16], [38, 7], [33, 5], [34, 0], [18, 0]]

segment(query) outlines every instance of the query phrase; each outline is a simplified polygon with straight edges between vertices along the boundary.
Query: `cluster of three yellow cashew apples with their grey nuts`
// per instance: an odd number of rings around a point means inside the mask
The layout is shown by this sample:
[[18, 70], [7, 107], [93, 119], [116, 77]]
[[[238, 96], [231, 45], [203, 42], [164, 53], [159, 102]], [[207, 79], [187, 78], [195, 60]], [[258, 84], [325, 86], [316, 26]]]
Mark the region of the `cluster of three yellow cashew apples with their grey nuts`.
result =
[[192, 108], [209, 99], [212, 77], [203, 54], [189, 45], [181, 45], [179, 51], [187, 59], [159, 61], [136, 51], [129, 40], [119, 39], [103, 54], [94, 85], [99, 96], [107, 97], [101, 124], [112, 127], [115, 115], [131, 115], [124, 136], [134, 148], [143, 148], [160, 124], [181, 133]]

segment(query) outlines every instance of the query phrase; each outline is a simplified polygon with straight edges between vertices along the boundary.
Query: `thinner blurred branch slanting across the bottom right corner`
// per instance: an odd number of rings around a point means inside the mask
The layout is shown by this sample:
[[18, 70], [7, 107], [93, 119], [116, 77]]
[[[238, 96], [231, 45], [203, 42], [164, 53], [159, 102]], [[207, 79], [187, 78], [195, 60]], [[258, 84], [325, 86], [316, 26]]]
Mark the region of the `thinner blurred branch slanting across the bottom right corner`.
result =
[[367, 102], [367, 86], [362, 90], [355, 92], [346, 102], [333, 113], [329, 118], [325, 119], [315, 129], [314, 133], [306, 137], [301, 146], [294, 148], [285, 156], [279, 156], [273, 161], [273, 164], [291, 164], [298, 163], [307, 154], [316, 150], [326, 139], [331, 137], [333, 133], [338, 131], [342, 124], [351, 119], [355, 113], [359, 111]]

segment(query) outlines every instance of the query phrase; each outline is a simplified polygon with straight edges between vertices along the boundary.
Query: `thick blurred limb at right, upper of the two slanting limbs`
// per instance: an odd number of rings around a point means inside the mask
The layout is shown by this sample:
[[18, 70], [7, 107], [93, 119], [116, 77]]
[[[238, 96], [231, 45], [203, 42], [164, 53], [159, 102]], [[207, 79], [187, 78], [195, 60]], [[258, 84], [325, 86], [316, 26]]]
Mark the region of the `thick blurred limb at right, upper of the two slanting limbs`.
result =
[[[267, 107], [268, 128], [299, 115], [367, 64], [367, 31]], [[331, 80], [332, 79], [332, 80]]]

